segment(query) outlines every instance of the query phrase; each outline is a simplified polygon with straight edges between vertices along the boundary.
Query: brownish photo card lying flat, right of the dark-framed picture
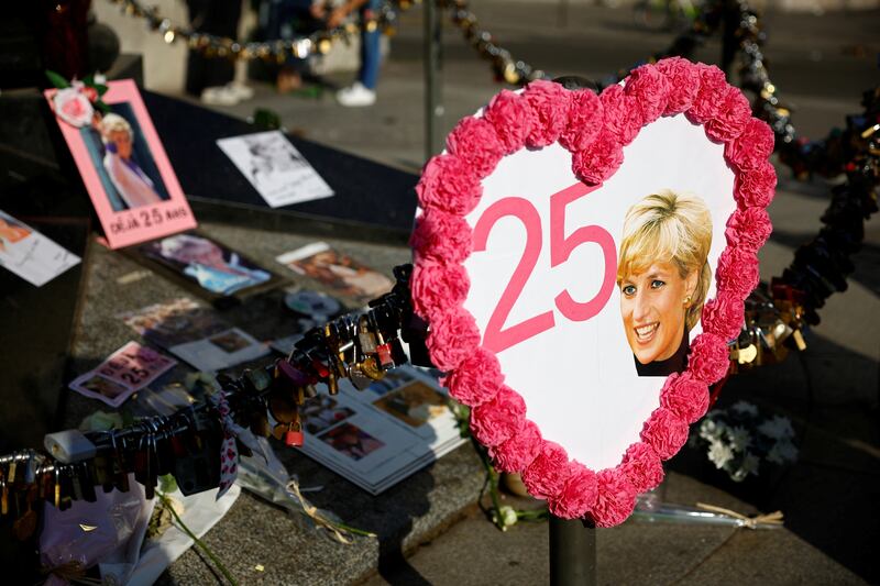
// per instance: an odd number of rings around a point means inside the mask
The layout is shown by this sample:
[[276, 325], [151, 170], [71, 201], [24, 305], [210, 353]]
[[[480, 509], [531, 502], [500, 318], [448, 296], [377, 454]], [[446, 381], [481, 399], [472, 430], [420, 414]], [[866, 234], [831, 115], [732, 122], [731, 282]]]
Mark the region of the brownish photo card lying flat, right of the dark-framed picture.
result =
[[394, 281], [382, 273], [331, 248], [326, 242], [284, 253], [276, 259], [294, 273], [314, 278], [333, 295], [359, 306], [366, 305], [394, 287]]

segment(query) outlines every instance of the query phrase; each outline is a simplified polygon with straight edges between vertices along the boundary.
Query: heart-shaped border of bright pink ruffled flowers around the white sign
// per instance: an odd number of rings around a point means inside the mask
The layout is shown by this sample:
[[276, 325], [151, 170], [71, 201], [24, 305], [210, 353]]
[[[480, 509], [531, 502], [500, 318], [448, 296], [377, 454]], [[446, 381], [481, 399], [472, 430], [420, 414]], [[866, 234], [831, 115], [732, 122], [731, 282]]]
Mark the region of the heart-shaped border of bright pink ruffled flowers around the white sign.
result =
[[[462, 263], [472, 251], [464, 217], [482, 196], [482, 179], [505, 155], [559, 142], [572, 153], [578, 178], [598, 185], [618, 169], [623, 147], [642, 126], [676, 114], [702, 124], [711, 141], [724, 143], [737, 210], [727, 221], [727, 247], [718, 258], [717, 295], [703, 309], [703, 333], [691, 344], [686, 371], [667, 378], [640, 441], [617, 466], [596, 472], [541, 436], [526, 418], [524, 399], [504, 384], [495, 354], [481, 346], [476, 322], [463, 307], [470, 280]], [[597, 527], [622, 523], [636, 495], [660, 484], [661, 461], [681, 450], [688, 425], [705, 413], [708, 385], [727, 373], [727, 341], [738, 335], [744, 300], [758, 285], [757, 252], [772, 230], [765, 210], [777, 183], [768, 161], [772, 151], [773, 132], [751, 117], [748, 100], [721, 69], [672, 57], [638, 67], [623, 86], [609, 86], [598, 96], [543, 80], [518, 93], [503, 90], [482, 115], [459, 122], [447, 139], [447, 152], [425, 166], [416, 188], [424, 213], [410, 244], [413, 303], [430, 323], [431, 360], [447, 373], [443, 383], [452, 397], [472, 408], [472, 432], [487, 446], [495, 467], [521, 473], [529, 493], [547, 499], [551, 513], [586, 517]]]

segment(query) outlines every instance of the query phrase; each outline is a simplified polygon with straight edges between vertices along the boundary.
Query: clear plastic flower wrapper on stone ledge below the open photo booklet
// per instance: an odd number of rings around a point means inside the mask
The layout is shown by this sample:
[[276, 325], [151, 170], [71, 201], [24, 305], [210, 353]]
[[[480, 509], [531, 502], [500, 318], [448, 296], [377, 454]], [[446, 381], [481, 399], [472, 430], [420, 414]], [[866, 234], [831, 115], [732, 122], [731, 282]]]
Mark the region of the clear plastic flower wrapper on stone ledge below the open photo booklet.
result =
[[373, 533], [348, 527], [334, 513], [315, 507], [302, 496], [296, 476], [290, 476], [268, 441], [265, 438], [254, 438], [254, 441], [260, 444], [260, 450], [254, 450], [254, 454], [261, 455], [241, 457], [238, 485], [273, 505], [296, 513], [295, 518], [304, 528], [327, 529], [330, 537], [341, 543], [351, 543], [350, 533], [375, 537]]

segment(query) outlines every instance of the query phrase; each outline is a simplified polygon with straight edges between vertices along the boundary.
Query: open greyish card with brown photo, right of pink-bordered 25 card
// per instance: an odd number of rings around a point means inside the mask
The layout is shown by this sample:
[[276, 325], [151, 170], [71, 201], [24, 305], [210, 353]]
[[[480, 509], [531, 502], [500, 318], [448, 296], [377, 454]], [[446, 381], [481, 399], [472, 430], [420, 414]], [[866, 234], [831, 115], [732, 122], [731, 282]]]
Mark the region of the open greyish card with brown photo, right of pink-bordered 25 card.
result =
[[216, 372], [268, 354], [265, 344], [188, 298], [119, 316], [150, 342], [198, 371]]

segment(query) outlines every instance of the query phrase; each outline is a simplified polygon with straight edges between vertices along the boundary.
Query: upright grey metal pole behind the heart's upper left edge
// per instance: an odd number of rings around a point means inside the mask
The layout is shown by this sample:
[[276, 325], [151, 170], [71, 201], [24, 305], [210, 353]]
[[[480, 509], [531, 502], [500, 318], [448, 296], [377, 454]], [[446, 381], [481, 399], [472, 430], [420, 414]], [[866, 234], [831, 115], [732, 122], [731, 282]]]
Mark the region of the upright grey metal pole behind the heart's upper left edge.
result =
[[425, 159], [443, 150], [442, 21], [436, 0], [425, 1]]

